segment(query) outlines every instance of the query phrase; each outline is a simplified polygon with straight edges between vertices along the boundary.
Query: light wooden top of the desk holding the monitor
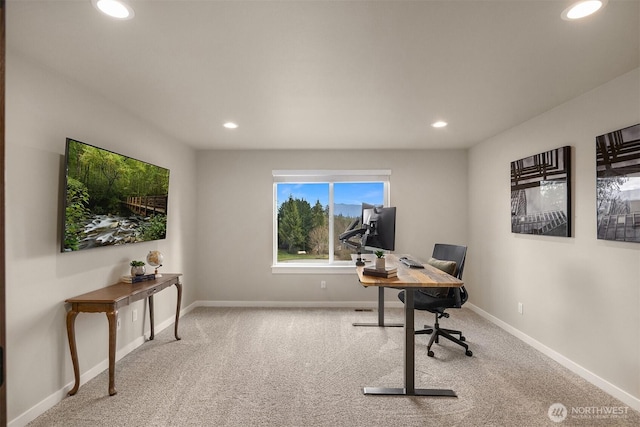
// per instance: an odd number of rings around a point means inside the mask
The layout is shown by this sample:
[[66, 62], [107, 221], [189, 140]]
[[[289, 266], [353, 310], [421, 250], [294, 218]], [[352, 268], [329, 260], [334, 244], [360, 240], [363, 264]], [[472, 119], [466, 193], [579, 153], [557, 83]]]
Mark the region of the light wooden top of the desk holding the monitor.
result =
[[356, 267], [358, 279], [362, 286], [385, 286], [389, 288], [451, 288], [460, 287], [464, 284], [462, 280], [453, 277], [442, 270], [438, 270], [429, 264], [423, 264], [425, 268], [410, 268], [399, 261], [400, 257], [420, 261], [411, 255], [406, 254], [387, 254], [385, 255], [385, 263], [387, 268], [397, 267], [398, 277], [383, 278], [376, 276], [365, 276], [362, 271], [365, 267], [374, 267], [373, 259], [375, 255], [363, 255], [363, 259], [372, 262], [365, 263], [364, 267]]

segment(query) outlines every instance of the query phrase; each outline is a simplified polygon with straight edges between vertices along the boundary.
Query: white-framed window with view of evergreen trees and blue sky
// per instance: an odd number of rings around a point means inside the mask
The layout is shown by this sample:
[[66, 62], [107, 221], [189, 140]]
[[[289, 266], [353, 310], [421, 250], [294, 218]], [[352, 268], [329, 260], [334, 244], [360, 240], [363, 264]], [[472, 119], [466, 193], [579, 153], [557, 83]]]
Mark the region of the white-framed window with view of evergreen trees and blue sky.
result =
[[273, 271], [326, 273], [349, 267], [338, 236], [362, 203], [389, 203], [390, 171], [273, 171]]

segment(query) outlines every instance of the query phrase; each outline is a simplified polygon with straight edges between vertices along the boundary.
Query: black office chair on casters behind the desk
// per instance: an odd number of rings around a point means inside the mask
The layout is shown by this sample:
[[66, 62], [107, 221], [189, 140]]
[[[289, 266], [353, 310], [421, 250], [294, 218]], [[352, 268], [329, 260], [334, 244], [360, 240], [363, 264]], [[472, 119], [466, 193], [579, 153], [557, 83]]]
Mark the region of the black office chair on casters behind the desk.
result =
[[[436, 243], [433, 247], [433, 255], [428, 264], [433, 265], [440, 270], [443, 270], [452, 276], [462, 279], [462, 272], [464, 271], [464, 261], [467, 255], [466, 246], [447, 245], [442, 243]], [[446, 262], [446, 261], [453, 261]], [[404, 292], [398, 294], [398, 298], [404, 302]], [[459, 288], [426, 288], [414, 290], [413, 303], [416, 310], [426, 310], [434, 313], [436, 321], [433, 326], [425, 325], [425, 329], [416, 331], [416, 334], [433, 334], [427, 345], [427, 355], [433, 357], [433, 351], [431, 346], [433, 343], [438, 343], [439, 338], [442, 336], [458, 345], [461, 345], [465, 349], [467, 356], [473, 356], [473, 352], [469, 350], [469, 346], [464, 342], [465, 337], [461, 331], [453, 329], [441, 328], [438, 319], [441, 317], [449, 317], [449, 313], [445, 310], [448, 308], [460, 308], [467, 299], [469, 294], [464, 286]], [[456, 338], [453, 335], [459, 335], [460, 338]]]

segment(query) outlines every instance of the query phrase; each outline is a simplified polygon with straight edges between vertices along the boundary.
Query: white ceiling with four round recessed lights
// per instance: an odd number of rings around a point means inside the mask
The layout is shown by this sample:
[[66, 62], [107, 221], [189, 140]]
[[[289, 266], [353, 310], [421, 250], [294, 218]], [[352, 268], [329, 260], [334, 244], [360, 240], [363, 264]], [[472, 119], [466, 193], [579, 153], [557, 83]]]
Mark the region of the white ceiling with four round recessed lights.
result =
[[198, 149], [469, 147], [640, 64], [639, 0], [130, 3], [8, 0], [7, 50]]

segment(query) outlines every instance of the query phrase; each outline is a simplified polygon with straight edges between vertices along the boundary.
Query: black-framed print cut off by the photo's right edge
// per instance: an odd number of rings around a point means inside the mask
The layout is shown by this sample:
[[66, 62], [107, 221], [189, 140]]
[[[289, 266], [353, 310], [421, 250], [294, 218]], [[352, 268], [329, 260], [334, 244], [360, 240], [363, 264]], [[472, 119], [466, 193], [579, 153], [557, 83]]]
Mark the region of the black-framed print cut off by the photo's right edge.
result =
[[640, 124], [596, 137], [598, 239], [640, 243]]

